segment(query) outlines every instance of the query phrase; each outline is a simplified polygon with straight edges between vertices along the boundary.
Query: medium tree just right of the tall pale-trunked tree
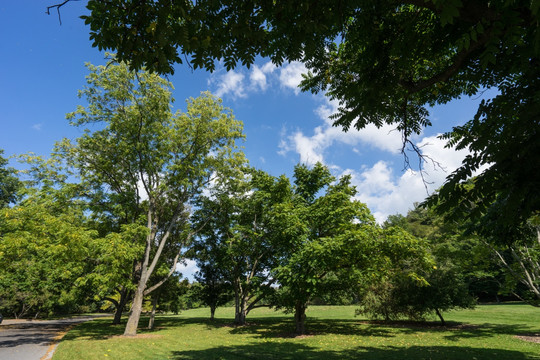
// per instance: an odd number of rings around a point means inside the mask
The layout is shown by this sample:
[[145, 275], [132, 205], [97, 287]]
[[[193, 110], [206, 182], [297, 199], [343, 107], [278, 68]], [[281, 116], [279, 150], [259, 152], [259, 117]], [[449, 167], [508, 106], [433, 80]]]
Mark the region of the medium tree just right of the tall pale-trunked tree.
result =
[[245, 324], [254, 308], [268, 306], [262, 302], [274, 291], [271, 270], [287, 248], [276, 235], [279, 212], [275, 207], [290, 195], [285, 176], [244, 169], [234, 177], [221, 178], [197, 211], [199, 223], [205, 226], [193, 250], [207, 277], [212, 274], [217, 276], [215, 281], [232, 285], [238, 325]]

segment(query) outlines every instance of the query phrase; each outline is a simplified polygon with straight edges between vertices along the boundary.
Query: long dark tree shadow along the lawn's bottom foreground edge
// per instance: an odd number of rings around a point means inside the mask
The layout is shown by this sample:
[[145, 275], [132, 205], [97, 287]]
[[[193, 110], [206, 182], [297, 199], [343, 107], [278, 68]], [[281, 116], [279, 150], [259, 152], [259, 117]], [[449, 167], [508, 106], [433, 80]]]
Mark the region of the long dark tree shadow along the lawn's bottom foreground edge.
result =
[[218, 346], [205, 350], [174, 351], [174, 360], [207, 359], [432, 359], [432, 360], [524, 360], [536, 358], [534, 354], [501, 349], [480, 349], [458, 346], [411, 346], [411, 347], [357, 347], [332, 351], [313, 348], [304, 344], [250, 344]]

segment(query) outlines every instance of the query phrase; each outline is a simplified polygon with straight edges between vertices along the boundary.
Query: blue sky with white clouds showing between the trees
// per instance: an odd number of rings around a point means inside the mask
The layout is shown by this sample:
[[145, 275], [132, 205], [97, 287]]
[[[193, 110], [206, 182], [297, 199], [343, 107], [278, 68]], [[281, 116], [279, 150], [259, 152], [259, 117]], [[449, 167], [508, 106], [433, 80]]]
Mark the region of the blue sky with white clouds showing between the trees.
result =
[[[85, 84], [86, 62], [104, 64], [104, 53], [92, 48], [89, 29], [79, 16], [85, 1], [71, 2], [56, 13], [45, 14], [55, 0], [20, 0], [0, 3], [0, 148], [7, 156], [34, 152], [47, 156], [55, 141], [76, 138], [65, 114], [81, 100], [77, 90]], [[213, 74], [178, 65], [172, 81], [175, 107], [210, 90], [223, 98], [244, 122], [245, 153], [251, 165], [273, 175], [292, 175], [298, 162], [322, 161], [334, 175], [351, 174], [358, 199], [379, 221], [406, 213], [426, 196], [415, 171], [403, 171], [401, 137], [391, 127], [351, 130], [331, 126], [335, 109], [323, 95], [302, 93], [297, 84], [304, 70], [300, 63], [276, 68], [259, 59], [251, 69]], [[486, 95], [489, 95], [487, 93]], [[415, 138], [423, 151], [446, 169], [427, 166], [430, 191], [439, 187], [465, 155], [444, 149], [437, 135], [463, 124], [474, 114], [480, 99], [461, 99], [431, 111], [433, 126]]]

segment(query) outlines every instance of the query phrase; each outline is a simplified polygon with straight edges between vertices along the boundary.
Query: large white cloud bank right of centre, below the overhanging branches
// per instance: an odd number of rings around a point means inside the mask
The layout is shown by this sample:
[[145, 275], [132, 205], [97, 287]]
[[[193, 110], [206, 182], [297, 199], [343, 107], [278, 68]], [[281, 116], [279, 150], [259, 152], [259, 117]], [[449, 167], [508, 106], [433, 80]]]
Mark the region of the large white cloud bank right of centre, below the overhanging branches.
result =
[[360, 131], [343, 132], [341, 128], [333, 127], [329, 118], [336, 109], [336, 102], [326, 101], [315, 110], [323, 123], [315, 127], [310, 136], [300, 130], [291, 134], [283, 129], [279, 153], [284, 156], [290, 152], [297, 153], [300, 162], [306, 164], [320, 161], [334, 169], [338, 176], [350, 174], [358, 190], [357, 198], [368, 205], [380, 222], [388, 215], [404, 214], [413, 208], [415, 202], [423, 201], [428, 193], [437, 190], [446, 177], [461, 165], [468, 153], [465, 150], [446, 148], [446, 141], [439, 139], [438, 135], [424, 136], [416, 140], [416, 145], [423, 155], [440, 165], [426, 162], [424, 179], [419, 171], [395, 171], [393, 164], [387, 161], [378, 161], [371, 167], [343, 170], [325, 161], [325, 154], [329, 154], [334, 146], [349, 145], [350, 150], [355, 153], [362, 152], [361, 146], [368, 146], [394, 155], [396, 161], [403, 161], [400, 154], [402, 139], [401, 134], [390, 125], [381, 128], [369, 125]]

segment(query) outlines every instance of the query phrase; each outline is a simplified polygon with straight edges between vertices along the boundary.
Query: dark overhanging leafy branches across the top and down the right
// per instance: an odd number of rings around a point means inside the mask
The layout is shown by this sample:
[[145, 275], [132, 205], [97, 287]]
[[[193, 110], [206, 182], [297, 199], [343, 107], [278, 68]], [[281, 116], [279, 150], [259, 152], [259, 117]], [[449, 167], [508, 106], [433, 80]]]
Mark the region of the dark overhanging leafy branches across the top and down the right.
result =
[[[277, 65], [303, 61], [310, 73], [302, 88], [339, 101], [335, 125], [395, 125], [402, 152], [416, 151], [420, 167], [425, 159], [410, 138], [430, 125], [426, 105], [496, 87], [500, 94], [470, 123], [443, 136], [472, 155], [432, 199], [453, 207], [471, 196], [490, 206], [500, 196], [499, 220], [509, 228], [540, 210], [528, 195], [540, 183], [537, 1], [90, 0], [88, 9], [93, 45], [115, 49], [134, 68], [172, 73], [185, 59], [231, 69], [256, 55]], [[482, 186], [461, 191], [475, 171]]]

